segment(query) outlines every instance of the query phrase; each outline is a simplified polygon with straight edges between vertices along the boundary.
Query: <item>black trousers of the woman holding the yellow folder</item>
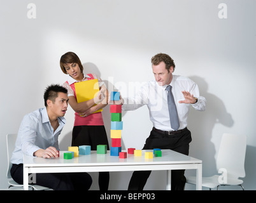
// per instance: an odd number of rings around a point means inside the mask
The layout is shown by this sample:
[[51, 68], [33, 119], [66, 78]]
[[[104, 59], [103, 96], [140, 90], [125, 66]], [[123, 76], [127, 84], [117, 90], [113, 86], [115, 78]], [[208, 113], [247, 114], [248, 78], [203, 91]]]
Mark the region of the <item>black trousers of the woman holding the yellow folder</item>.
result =
[[[108, 145], [108, 136], [104, 126], [74, 126], [72, 146], [90, 145], [91, 150], [97, 150], [97, 145]], [[109, 172], [99, 172], [99, 190], [108, 190]]]

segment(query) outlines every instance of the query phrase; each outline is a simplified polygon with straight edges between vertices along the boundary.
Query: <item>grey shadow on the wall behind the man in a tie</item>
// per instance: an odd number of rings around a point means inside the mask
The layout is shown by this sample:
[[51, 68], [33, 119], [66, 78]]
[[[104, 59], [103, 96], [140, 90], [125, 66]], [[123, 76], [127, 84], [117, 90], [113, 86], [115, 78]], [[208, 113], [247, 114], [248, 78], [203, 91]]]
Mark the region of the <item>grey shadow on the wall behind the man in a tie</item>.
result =
[[[208, 84], [202, 77], [191, 76], [189, 78], [198, 84], [200, 95], [206, 98], [206, 110], [199, 112], [192, 108], [188, 116], [188, 129], [192, 134], [190, 156], [203, 160], [203, 176], [210, 176], [217, 173], [215, 145], [211, 142], [213, 128], [217, 123], [232, 127], [234, 121], [231, 114], [227, 112], [224, 102], [208, 93]], [[218, 136], [221, 139], [222, 134]]]

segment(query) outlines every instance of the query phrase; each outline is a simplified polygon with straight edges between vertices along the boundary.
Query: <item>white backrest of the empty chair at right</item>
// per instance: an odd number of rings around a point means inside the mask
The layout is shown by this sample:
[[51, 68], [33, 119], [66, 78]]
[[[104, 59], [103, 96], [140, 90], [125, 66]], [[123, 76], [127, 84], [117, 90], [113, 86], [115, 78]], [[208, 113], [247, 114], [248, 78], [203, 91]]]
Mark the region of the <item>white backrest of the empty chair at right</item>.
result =
[[246, 136], [224, 133], [218, 150], [217, 169], [225, 169], [227, 177], [245, 177]]

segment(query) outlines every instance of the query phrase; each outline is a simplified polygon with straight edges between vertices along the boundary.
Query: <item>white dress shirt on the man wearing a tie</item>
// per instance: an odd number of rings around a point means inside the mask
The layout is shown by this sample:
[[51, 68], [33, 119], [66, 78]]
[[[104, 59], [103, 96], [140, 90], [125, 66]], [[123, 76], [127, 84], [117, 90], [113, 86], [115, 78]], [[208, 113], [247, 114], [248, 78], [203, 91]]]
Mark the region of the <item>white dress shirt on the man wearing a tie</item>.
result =
[[[162, 131], [173, 131], [167, 105], [167, 85], [159, 86], [156, 81], [148, 82], [141, 87], [136, 96], [133, 98], [124, 98], [122, 110], [135, 110], [143, 105], [147, 105], [150, 113], [150, 121], [153, 122], [153, 127]], [[170, 85], [173, 87], [172, 93], [178, 111], [178, 118], [180, 121], [179, 129], [183, 129], [187, 127], [190, 106], [194, 107], [196, 110], [203, 111], [206, 108], [206, 99], [199, 95], [197, 84], [188, 77], [173, 75]], [[185, 100], [181, 91], [188, 91], [190, 94], [193, 94], [198, 98], [197, 103], [178, 103], [180, 100]]]

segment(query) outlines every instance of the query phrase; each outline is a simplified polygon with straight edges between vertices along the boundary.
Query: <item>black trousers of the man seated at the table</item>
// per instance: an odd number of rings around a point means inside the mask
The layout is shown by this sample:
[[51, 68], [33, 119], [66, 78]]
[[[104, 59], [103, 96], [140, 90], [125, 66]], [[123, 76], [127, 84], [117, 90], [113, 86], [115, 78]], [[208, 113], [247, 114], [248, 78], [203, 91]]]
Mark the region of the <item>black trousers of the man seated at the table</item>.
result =
[[[23, 164], [13, 164], [11, 177], [23, 184]], [[92, 178], [88, 173], [36, 173], [32, 183], [53, 190], [89, 190]]]

